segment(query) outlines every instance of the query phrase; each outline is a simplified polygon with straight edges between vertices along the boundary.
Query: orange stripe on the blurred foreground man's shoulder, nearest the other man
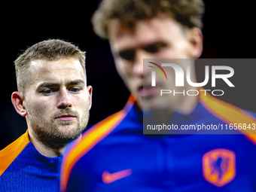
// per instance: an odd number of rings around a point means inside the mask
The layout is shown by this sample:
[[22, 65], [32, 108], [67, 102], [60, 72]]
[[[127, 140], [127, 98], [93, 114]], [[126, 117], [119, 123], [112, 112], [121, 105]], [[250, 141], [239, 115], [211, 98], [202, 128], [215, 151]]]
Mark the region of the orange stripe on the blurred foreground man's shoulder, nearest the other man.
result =
[[66, 154], [62, 161], [62, 169], [61, 169], [61, 178], [60, 178], [60, 191], [66, 191], [69, 176], [72, 172], [72, 169], [75, 166], [75, 163], [87, 154], [91, 148], [93, 148], [97, 143], [99, 143], [105, 136], [108, 136], [109, 133], [114, 130], [114, 128], [126, 117], [128, 111], [133, 106], [135, 102], [135, 97], [130, 96], [126, 106], [122, 111], [119, 111], [111, 116], [107, 117], [105, 120], [100, 121], [95, 126], [91, 127], [80, 142], [77, 142], [72, 149]]

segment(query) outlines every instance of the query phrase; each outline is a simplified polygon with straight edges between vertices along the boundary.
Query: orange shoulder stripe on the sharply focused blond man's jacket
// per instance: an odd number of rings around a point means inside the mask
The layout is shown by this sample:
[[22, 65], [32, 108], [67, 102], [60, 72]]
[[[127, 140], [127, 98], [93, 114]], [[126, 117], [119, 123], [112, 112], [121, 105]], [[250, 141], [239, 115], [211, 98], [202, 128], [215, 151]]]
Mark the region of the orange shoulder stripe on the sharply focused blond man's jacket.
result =
[[0, 151], [0, 176], [5, 172], [8, 166], [11, 165], [20, 152], [23, 151], [29, 142], [29, 132], [26, 130], [26, 133]]

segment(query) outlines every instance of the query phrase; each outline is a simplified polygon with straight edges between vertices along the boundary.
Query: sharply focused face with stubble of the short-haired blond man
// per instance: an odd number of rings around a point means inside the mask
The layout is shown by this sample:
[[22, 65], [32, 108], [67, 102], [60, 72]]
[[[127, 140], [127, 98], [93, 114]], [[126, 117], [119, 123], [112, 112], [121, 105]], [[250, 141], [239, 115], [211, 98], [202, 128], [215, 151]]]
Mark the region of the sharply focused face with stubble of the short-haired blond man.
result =
[[65, 145], [87, 126], [91, 87], [78, 59], [33, 60], [26, 81], [26, 120], [44, 145]]

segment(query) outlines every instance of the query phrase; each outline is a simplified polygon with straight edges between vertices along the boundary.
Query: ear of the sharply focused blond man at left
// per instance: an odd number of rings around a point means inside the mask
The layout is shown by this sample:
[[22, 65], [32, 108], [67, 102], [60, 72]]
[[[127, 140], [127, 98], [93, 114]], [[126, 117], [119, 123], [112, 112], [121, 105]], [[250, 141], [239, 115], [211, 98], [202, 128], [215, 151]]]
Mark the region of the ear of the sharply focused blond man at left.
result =
[[26, 117], [28, 112], [26, 111], [26, 107], [24, 106], [24, 96], [23, 93], [15, 91], [11, 94], [11, 102], [14, 105], [15, 110], [18, 114], [20, 114], [23, 117]]

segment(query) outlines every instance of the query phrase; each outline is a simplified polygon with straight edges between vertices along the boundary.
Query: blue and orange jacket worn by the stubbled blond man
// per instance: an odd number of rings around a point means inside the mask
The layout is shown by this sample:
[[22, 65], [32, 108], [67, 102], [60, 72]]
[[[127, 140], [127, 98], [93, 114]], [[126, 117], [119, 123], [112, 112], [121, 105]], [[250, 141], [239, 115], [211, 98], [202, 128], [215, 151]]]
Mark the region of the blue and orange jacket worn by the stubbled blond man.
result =
[[0, 191], [59, 191], [62, 157], [44, 157], [28, 130], [0, 151]]

